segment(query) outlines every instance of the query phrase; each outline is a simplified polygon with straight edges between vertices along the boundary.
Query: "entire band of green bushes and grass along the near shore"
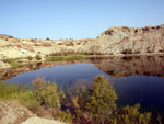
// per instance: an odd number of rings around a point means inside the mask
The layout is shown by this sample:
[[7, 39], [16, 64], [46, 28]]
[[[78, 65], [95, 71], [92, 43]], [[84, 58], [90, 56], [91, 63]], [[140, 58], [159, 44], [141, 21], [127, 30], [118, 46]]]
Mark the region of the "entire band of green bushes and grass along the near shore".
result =
[[[56, 83], [50, 84], [38, 76], [32, 84], [33, 88], [27, 89], [0, 82], [0, 100], [17, 100], [36, 113], [46, 109], [54, 119], [67, 123], [84, 123], [87, 120], [87, 123], [94, 124], [152, 124], [151, 113], [141, 113], [140, 104], [118, 108], [113, 84], [102, 75], [96, 77], [92, 88], [82, 87], [77, 94], [70, 91], [65, 95], [61, 91], [60, 100]], [[68, 110], [61, 111], [60, 103]], [[160, 123], [162, 119], [159, 116], [155, 121]]]

